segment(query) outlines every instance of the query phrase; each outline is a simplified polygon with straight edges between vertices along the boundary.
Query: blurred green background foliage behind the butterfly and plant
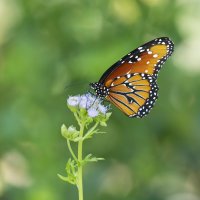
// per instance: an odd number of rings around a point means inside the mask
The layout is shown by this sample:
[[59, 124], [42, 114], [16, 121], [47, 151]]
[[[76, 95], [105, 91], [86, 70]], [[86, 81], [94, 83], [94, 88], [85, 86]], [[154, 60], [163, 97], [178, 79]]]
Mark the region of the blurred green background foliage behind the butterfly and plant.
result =
[[159, 100], [143, 119], [112, 107], [85, 144], [106, 161], [84, 170], [87, 200], [200, 199], [199, 0], [0, 0], [0, 199], [75, 200], [58, 179], [69, 157], [68, 95], [120, 57], [168, 36]]

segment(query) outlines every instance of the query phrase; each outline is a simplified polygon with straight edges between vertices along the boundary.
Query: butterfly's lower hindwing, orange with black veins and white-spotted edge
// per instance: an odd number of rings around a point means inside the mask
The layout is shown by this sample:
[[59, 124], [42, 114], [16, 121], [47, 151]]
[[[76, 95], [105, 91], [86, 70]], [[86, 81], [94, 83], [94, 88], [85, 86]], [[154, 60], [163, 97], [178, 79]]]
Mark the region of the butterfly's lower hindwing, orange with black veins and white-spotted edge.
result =
[[135, 73], [113, 80], [106, 99], [129, 117], [147, 115], [157, 99], [158, 86], [150, 75]]

